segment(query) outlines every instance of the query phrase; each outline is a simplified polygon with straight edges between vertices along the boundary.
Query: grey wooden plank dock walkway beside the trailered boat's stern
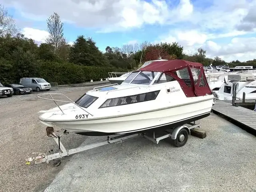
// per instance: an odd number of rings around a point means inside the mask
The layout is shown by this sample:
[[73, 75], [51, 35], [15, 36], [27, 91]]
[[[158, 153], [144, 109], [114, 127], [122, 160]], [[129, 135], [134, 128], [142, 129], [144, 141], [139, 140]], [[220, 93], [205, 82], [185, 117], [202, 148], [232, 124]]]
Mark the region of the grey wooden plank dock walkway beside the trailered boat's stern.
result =
[[216, 100], [216, 104], [212, 106], [215, 114], [225, 116], [228, 120], [232, 120], [239, 127], [253, 132], [256, 135], [256, 112], [241, 106], [232, 106], [232, 103]]

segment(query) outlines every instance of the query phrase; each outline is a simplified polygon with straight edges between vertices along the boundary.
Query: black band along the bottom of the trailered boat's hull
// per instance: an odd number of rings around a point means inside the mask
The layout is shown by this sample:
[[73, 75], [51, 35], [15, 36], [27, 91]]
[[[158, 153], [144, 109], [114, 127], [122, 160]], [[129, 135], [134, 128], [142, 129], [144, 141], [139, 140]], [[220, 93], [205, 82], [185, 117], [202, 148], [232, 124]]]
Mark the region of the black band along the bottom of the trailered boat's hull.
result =
[[[150, 132], [152, 130], [157, 130], [157, 131], [166, 130], [166, 129], [182, 126], [184, 124], [188, 124], [190, 122], [203, 119], [205, 117], [208, 117], [209, 115], [210, 115], [210, 112], [206, 113], [206, 114], [201, 114], [199, 116], [194, 116], [194, 117], [191, 117], [191, 118], [188, 118], [188, 119], [182, 119], [182, 120], [180, 120], [178, 122], [174, 122], [172, 124], [167, 124], [167, 125], [163, 124], [163, 125], [160, 125], [158, 127], [154, 126], [153, 128], [149, 127], [149, 129], [147, 129], [147, 130], [139, 129], [138, 131], [135, 130], [135, 132], [130, 132], [130, 133], [127, 133], [127, 134], [146, 133], [146, 132]], [[122, 132], [118, 132], [118, 133], [105, 133], [105, 132], [97, 132], [97, 131], [91, 131], [91, 132], [72, 132], [72, 133], [76, 133], [76, 134], [79, 134], [79, 135], [86, 135], [86, 136], [109, 136], [109, 135], [115, 135], [115, 134], [122, 134]], [[123, 133], [125, 133], [125, 132], [123, 132]]]

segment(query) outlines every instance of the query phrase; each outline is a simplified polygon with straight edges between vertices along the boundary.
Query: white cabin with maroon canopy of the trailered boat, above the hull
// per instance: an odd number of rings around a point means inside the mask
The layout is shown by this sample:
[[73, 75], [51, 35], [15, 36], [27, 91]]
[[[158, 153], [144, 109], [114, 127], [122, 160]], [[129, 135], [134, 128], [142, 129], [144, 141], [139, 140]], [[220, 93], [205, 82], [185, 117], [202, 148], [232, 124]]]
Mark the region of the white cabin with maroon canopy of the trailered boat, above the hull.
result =
[[166, 106], [166, 103], [161, 101], [176, 98], [181, 99], [176, 103], [184, 103], [185, 98], [186, 102], [191, 102], [191, 97], [207, 95], [212, 96], [212, 91], [202, 64], [185, 60], [166, 60], [154, 61], [132, 72], [120, 85], [96, 87], [81, 96], [76, 104], [84, 108], [102, 109], [124, 105], [128, 107], [127, 104], [140, 103], [139, 106], [146, 109], [149, 106], [144, 101], [157, 99], [160, 102], [158, 105]]

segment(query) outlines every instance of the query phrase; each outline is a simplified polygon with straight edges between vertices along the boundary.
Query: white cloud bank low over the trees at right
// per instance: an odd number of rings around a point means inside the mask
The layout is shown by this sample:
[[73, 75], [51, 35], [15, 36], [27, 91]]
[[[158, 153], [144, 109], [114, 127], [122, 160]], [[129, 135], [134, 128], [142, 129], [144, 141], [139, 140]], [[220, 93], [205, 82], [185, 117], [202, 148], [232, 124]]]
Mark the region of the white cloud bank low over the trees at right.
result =
[[[239, 35], [240, 33], [234, 32]], [[243, 34], [243, 33], [241, 33]], [[188, 31], [171, 31], [166, 36], [160, 36], [158, 42], [178, 42], [184, 47], [186, 54], [194, 54], [199, 47], [206, 50], [206, 56], [220, 58], [230, 62], [232, 60], [252, 60], [256, 58], [256, 37], [234, 37], [231, 40], [225, 40], [225, 43], [216, 43], [216, 38], [232, 37], [232, 34], [206, 34], [196, 30]], [[224, 39], [223, 39], [224, 40]], [[221, 41], [220, 41], [221, 42]]]

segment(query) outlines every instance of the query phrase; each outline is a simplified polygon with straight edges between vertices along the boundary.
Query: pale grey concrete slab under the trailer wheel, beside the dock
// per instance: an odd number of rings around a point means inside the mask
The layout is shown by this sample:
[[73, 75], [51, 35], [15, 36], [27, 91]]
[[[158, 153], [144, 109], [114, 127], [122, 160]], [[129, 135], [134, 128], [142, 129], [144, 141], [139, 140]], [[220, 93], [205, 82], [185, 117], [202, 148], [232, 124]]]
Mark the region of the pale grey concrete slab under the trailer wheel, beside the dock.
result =
[[198, 122], [206, 138], [181, 148], [136, 137], [74, 154], [45, 192], [256, 192], [256, 137], [217, 115]]

